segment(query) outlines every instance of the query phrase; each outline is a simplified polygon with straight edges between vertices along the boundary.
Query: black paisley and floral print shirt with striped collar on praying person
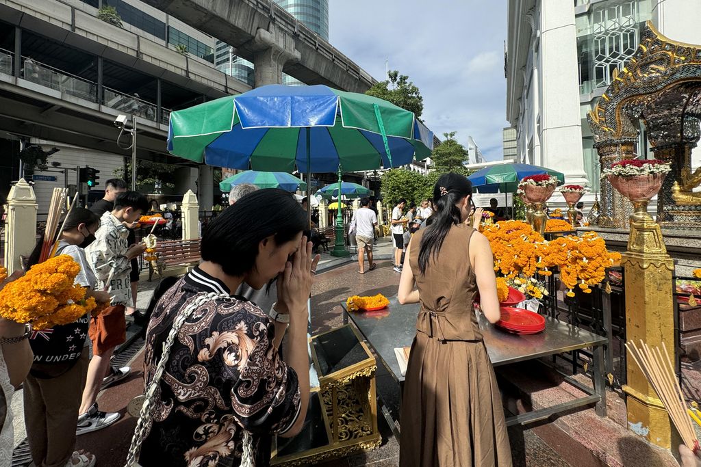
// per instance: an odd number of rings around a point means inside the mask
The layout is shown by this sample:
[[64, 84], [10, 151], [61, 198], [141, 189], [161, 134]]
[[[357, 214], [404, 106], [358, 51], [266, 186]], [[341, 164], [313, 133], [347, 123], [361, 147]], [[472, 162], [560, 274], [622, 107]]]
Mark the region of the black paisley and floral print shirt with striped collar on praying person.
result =
[[[231, 293], [196, 268], [158, 300], [147, 333], [147, 384], [175, 316], [210, 292]], [[238, 466], [243, 428], [252, 434], [255, 465], [268, 465], [271, 435], [300, 415], [297, 373], [273, 347], [274, 335], [268, 316], [243, 298], [219, 298], [193, 312], [170, 350], [139, 463]]]

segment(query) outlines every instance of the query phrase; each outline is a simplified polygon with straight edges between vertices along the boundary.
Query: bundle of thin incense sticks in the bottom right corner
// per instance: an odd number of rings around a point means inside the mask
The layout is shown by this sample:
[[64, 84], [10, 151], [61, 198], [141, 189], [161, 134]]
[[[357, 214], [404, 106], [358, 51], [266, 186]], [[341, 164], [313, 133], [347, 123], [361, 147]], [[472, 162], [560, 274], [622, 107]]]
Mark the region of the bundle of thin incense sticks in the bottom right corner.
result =
[[642, 340], [640, 341], [640, 347], [636, 347], [632, 341], [627, 342], [625, 347], [653, 386], [655, 392], [658, 393], [662, 404], [665, 405], [665, 409], [669, 413], [669, 418], [672, 419], [672, 423], [676, 426], [676, 431], [679, 431], [679, 435], [681, 435], [686, 447], [693, 452], [697, 452], [699, 442], [696, 439], [694, 428], [691, 426], [686, 401], [681, 393], [679, 382], [676, 380], [672, 359], [669, 358], [665, 343], [662, 342], [664, 356], [659, 347], [650, 348]]

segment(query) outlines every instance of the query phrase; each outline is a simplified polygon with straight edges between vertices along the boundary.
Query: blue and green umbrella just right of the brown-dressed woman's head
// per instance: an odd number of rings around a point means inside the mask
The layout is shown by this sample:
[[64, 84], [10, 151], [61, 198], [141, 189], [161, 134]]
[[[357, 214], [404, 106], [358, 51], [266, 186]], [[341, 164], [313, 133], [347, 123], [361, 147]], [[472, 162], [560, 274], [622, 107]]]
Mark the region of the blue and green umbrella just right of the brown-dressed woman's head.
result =
[[468, 180], [479, 193], [515, 193], [524, 176], [541, 174], [556, 176], [558, 184], [565, 183], [561, 172], [529, 164], [492, 165], [469, 175]]

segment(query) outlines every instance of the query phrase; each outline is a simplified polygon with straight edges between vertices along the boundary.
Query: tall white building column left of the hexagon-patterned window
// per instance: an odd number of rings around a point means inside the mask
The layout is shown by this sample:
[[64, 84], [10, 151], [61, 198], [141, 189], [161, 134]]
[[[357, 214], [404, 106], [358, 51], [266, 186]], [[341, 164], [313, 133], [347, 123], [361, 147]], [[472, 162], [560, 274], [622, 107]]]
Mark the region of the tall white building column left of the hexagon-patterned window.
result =
[[574, 2], [540, 3], [540, 151], [543, 165], [584, 185]]

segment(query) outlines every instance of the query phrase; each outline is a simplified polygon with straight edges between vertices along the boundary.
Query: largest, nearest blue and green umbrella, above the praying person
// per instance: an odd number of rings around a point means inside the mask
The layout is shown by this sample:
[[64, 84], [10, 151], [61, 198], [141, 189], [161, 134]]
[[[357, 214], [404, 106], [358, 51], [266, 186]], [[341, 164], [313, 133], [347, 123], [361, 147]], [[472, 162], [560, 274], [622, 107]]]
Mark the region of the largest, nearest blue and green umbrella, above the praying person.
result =
[[[414, 113], [324, 85], [267, 85], [170, 113], [168, 151], [232, 169], [337, 172], [423, 160], [433, 133]], [[307, 186], [307, 193], [310, 187]], [[311, 213], [310, 213], [311, 214]], [[339, 213], [339, 217], [341, 214]], [[346, 256], [342, 218], [332, 254]]]

